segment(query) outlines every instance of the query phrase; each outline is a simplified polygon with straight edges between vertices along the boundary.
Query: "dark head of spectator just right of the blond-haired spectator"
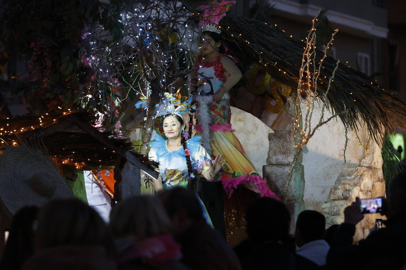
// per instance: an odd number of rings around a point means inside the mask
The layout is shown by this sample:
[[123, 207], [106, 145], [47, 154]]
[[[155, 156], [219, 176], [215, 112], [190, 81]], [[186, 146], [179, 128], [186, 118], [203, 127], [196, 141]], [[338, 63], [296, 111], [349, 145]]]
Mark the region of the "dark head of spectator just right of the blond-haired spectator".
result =
[[179, 234], [193, 222], [203, 219], [203, 211], [196, 195], [183, 187], [163, 191], [159, 198], [172, 223], [173, 233]]

